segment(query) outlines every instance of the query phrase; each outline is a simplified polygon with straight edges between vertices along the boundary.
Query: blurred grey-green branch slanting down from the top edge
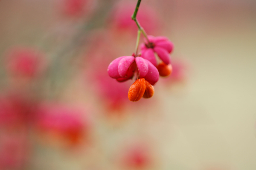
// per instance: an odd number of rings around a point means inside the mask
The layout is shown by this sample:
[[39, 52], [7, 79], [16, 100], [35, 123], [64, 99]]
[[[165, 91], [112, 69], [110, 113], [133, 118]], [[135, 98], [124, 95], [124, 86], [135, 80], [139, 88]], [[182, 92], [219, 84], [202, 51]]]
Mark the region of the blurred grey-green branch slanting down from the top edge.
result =
[[[88, 32], [104, 26], [106, 17], [108, 17], [108, 12], [112, 8], [114, 0], [101, 2], [102, 3], [98, 6], [90, 20], [84, 22], [79, 32], [72, 40], [70, 40], [70, 43], [68, 43], [67, 46], [64, 46], [63, 49], [57, 53], [57, 55], [54, 55], [54, 61], [52, 62], [52, 66], [49, 69], [47, 76], [49, 77], [51, 96], [55, 96], [58, 91], [61, 91], [60, 87], [63, 86], [63, 81], [67, 80], [67, 73], [71, 68], [65, 66], [64, 62], [67, 61], [70, 63], [73, 56], [76, 56], [76, 53], [79, 52], [79, 48], [84, 44], [84, 42], [86, 42], [87, 37], [90, 35]], [[62, 79], [62, 81], [60, 79]], [[56, 80], [60, 82], [59, 85], [57, 84]]]

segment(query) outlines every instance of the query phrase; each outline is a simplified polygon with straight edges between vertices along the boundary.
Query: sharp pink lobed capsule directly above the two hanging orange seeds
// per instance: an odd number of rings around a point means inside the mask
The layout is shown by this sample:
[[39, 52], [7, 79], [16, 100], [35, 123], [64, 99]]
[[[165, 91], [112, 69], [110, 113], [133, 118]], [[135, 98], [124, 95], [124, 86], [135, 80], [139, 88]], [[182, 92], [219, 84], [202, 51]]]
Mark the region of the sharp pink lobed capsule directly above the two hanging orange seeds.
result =
[[154, 85], [159, 79], [157, 68], [148, 60], [141, 57], [122, 56], [113, 60], [108, 66], [108, 75], [117, 81], [127, 81], [137, 74]]

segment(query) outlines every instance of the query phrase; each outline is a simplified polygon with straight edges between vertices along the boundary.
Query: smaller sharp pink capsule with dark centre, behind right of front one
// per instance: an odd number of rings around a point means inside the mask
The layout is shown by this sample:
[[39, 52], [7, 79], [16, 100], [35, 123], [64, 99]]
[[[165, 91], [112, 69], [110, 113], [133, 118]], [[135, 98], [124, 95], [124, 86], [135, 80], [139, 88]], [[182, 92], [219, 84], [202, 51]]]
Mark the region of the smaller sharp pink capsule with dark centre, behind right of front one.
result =
[[170, 53], [173, 50], [173, 43], [168, 40], [167, 37], [153, 37], [148, 36], [149, 42], [145, 42], [141, 46], [141, 57], [150, 61], [154, 66], [157, 66], [157, 60], [154, 53], [157, 53], [158, 57], [166, 63], [166, 65], [171, 63]]

